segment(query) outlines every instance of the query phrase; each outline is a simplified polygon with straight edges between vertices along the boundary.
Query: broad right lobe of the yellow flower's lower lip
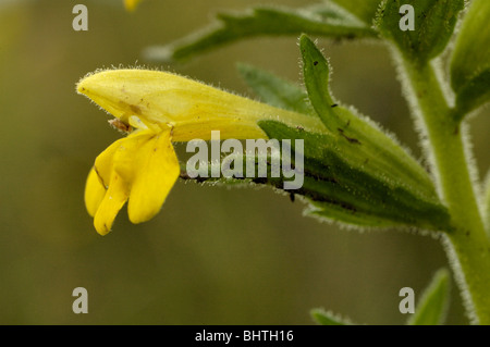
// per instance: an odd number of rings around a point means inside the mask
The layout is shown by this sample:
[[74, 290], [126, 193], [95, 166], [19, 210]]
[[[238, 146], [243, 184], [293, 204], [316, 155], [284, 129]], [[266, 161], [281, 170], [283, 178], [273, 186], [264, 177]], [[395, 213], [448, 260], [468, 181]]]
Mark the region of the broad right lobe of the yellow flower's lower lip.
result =
[[127, 213], [133, 223], [150, 220], [160, 211], [180, 174], [170, 131], [152, 136], [138, 149]]

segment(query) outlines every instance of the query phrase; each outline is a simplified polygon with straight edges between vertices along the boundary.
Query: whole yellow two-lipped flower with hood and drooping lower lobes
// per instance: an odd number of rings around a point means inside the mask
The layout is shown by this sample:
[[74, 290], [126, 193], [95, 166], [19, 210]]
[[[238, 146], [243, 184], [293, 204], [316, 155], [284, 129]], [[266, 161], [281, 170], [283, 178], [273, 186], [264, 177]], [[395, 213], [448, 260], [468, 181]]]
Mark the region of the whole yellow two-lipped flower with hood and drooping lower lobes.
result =
[[[150, 220], [180, 175], [172, 141], [267, 138], [260, 120], [281, 121], [317, 132], [321, 122], [277, 109], [175, 74], [147, 70], [102, 71], [84, 77], [77, 91], [117, 117], [131, 134], [99, 154], [85, 189], [97, 232], [110, 232], [128, 201], [131, 222]], [[134, 131], [133, 131], [134, 128]]]

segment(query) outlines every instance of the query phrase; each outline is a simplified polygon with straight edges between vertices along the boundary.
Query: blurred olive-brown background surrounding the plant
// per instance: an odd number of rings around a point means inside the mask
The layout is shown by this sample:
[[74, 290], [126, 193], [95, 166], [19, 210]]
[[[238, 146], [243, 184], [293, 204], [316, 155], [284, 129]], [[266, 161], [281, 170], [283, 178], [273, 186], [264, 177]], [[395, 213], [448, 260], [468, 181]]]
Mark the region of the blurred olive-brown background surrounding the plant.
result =
[[[304, 218], [304, 203], [269, 188], [179, 182], [161, 213], [132, 225], [123, 210], [108, 236], [85, 211], [85, 178], [120, 137], [109, 116], [75, 92], [99, 67], [146, 63], [142, 50], [209, 23], [250, 0], [0, 2], [2, 135], [1, 324], [311, 324], [324, 307], [367, 324], [402, 324], [399, 290], [416, 294], [446, 264], [438, 240], [409, 233], [358, 233]], [[275, 0], [293, 7], [305, 0]], [[72, 8], [88, 7], [88, 32]], [[321, 39], [335, 96], [379, 121], [419, 157], [417, 136], [385, 47]], [[258, 38], [185, 65], [156, 65], [252, 96], [235, 71], [248, 62], [299, 80], [296, 38]], [[482, 175], [490, 117], [471, 120]], [[72, 290], [88, 290], [74, 314]], [[448, 323], [466, 323], [452, 286]]]

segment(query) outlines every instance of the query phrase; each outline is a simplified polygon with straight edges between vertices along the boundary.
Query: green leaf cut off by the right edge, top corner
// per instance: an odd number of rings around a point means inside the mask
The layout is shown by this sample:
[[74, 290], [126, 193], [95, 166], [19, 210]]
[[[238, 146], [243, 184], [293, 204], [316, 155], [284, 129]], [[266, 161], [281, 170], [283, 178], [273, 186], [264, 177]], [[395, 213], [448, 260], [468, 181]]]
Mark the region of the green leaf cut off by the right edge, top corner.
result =
[[490, 100], [490, 1], [475, 0], [466, 14], [451, 60], [457, 115]]

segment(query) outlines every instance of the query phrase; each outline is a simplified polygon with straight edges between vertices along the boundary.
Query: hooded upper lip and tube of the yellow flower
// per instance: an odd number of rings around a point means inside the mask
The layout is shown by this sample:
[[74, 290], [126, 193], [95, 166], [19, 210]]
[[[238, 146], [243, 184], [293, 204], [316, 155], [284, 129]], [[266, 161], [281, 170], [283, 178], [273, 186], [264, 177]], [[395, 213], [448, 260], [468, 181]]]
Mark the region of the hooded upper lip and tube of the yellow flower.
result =
[[323, 128], [317, 117], [277, 109], [238, 97], [182, 76], [148, 70], [109, 70], [83, 78], [77, 91], [127, 123], [138, 116], [148, 127], [173, 126], [175, 141], [221, 138], [267, 138], [260, 120], [301, 125], [307, 131]]

